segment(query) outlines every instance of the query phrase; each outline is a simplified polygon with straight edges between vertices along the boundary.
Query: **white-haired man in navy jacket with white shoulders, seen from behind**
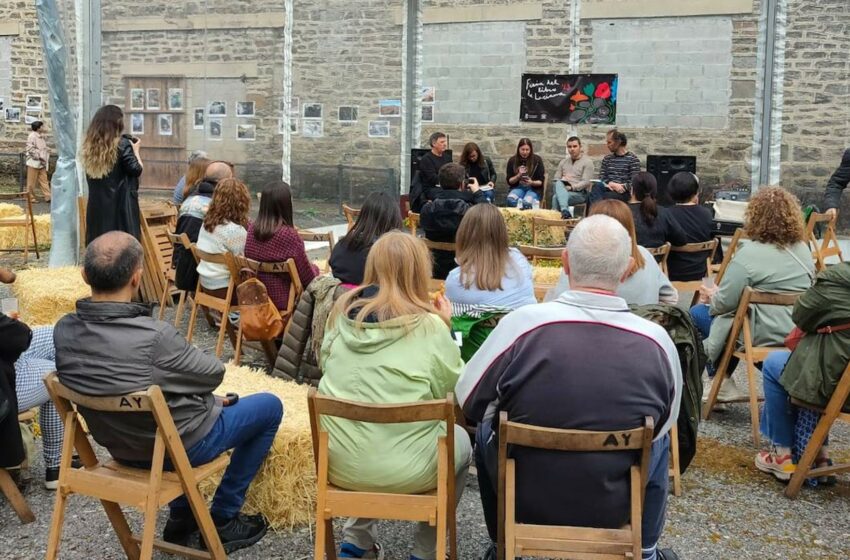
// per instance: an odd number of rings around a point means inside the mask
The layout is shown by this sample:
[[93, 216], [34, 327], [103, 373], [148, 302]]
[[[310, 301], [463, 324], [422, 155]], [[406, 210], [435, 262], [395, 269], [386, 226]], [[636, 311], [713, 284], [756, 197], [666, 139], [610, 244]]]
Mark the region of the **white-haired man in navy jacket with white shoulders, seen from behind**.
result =
[[[629, 234], [619, 222], [602, 215], [583, 219], [563, 254], [570, 290], [505, 316], [458, 380], [455, 394], [464, 415], [478, 423], [475, 463], [493, 541], [502, 410], [515, 422], [604, 431], [635, 428], [651, 416], [656, 428], [641, 519], [642, 556], [678, 560], [657, 543], [682, 370], [667, 332], [631, 313], [614, 293], [633, 260]], [[632, 455], [516, 448], [511, 456], [517, 461], [519, 522], [603, 528], [628, 522]], [[491, 547], [485, 558], [494, 552]]]

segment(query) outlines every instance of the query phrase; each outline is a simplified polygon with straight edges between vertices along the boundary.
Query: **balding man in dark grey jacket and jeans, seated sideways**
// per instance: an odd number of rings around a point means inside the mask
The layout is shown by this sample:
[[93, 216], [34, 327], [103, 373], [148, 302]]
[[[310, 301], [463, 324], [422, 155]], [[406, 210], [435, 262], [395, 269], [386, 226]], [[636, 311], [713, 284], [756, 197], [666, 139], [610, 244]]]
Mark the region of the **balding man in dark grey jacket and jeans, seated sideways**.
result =
[[[271, 447], [283, 415], [274, 395], [260, 393], [225, 402], [213, 395], [224, 365], [186, 342], [169, 323], [151, 317], [151, 307], [133, 302], [142, 280], [142, 246], [119, 231], [94, 239], [86, 249], [83, 278], [92, 295], [53, 330], [56, 369], [69, 388], [92, 396], [124, 395], [158, 385], [194, 466], [228, 449], [230, 464], [210, 513], [226, 551], [250, 546], [266, 533], [261, 515], [240, 512], [245, 492]], [[154, 433], [144, 415], [87, 410], [91, 434], [112, 456], [137, 467], [150, 465]], [[163, 539], [191, 545], [197, 523], [180, 497]]]

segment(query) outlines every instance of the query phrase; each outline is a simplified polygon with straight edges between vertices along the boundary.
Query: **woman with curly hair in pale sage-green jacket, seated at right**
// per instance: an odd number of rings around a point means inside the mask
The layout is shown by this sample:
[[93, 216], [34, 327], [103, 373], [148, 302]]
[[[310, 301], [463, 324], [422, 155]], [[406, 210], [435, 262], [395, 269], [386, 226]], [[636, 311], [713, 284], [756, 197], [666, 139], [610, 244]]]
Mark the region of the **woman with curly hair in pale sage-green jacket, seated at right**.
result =
[[[708, 374], [714, 376], [726, 339], [732, 329], [735, 310], [744, 288], [765, 292], [803, 292], [814, 279], [812, 253], [806, 245], [803, 214], [797, 199], [781, 187], [762, 187], [750, 200], [744, 215], [747, 239], [739, 242], [719, 286], [701, 286], [700, 303], [691, 308], [694, 324], [705, 339]], [[782, 346], [791, 332], [791, 308], [755, 305], [751, 316], [753, 344]], [[731, 373], [737, 360], [730, 363]], [[710, 386], [706, 384], [706, 389]], [[707, 397], [708, 391], [705, 396]], [[746, 397], [733, 379], [720, 388], [718, 400]]]

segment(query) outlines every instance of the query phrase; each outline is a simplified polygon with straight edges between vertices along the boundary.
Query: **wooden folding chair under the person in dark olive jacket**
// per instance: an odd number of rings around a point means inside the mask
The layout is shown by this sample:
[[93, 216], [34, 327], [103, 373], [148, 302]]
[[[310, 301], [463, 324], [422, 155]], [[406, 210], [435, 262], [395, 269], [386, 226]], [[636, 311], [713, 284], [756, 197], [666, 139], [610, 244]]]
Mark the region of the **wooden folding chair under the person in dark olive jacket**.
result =
[[835, 421], [844, 420], [845, 422], [850, 422], [850, 405], [847, 404], [848, 398], [850, 398], [850, 364], [844, 369], [844, 373], [841, 375], [838, 385], [835, 386], [835, 391], [833, 391], [832, 397], [830, 397], [829, 402], [826, 404], [826, 408], [791, 398], [791, 404], [819, 412], [821, 417], [812, 437], [809, 439], [809, 444], [806, 445], [803, 456], [800, 457], [800, 462], [797, 464], [794, 474], [791, 476], [791, 481], [785, 489], [785, 495], [789, 498], [794, 499], [797, 497], [800, 493], [800, 488], [803, 486], [803, 482], [807, 478], [850, 471], [850, 462], [831, 467], [812, 468], [818, 451], [823, 446], [823, 442], [826, 440], [826, 436], [829, 435], [829, 430]]

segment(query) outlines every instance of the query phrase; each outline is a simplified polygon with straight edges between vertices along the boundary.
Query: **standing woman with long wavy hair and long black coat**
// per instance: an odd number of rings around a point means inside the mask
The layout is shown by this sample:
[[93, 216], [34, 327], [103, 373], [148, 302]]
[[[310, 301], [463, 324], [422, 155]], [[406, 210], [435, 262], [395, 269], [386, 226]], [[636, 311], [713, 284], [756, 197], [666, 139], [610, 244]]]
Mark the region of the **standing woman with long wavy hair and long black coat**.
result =
[[122, 134], [124, 113], [115, 105], [97, 110], [86, 132], [80, 161], [86, 172], [86, 245], [107, 231], [124, 231], [141, 238], [139, 139]]

